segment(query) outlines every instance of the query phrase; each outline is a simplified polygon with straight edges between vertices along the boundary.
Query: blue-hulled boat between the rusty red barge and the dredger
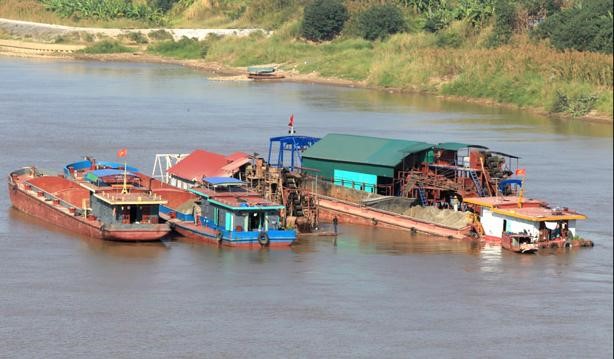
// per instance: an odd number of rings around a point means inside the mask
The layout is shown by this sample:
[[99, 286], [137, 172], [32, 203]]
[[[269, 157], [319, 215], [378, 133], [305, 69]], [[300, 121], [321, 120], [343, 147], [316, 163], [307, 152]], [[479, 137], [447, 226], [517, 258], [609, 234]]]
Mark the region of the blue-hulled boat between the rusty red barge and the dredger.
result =
[[208, 177], [183, 190], [152, 180], [168, 203], [160, 215], [184, 237], [232, 247], [286, 247], [296, 231], [282, 228], [284, 206], [262, 198], [232, 177]]

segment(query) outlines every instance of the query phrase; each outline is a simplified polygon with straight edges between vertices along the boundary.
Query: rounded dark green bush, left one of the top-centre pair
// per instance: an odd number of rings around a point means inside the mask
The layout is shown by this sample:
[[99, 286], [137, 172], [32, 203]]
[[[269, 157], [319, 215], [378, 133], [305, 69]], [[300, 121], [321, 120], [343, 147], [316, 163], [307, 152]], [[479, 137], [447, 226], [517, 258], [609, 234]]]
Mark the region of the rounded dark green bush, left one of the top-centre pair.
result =
[[339, 0], [314, 0], [305, 6], [303, 37], [313, 41], [332, 40], [339, 35], [348, 12]]

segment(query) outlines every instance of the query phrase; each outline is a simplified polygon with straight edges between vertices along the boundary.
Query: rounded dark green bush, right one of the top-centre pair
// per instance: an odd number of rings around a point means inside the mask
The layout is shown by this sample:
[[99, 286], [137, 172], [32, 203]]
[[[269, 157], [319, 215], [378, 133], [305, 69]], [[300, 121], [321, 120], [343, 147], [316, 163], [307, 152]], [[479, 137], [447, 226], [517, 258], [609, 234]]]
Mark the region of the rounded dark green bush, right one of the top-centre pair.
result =
[[401, 10], [394, 5], [375, 5], [359, 15], [359, 31], [367, 40], [383, 39], [405, 30]]

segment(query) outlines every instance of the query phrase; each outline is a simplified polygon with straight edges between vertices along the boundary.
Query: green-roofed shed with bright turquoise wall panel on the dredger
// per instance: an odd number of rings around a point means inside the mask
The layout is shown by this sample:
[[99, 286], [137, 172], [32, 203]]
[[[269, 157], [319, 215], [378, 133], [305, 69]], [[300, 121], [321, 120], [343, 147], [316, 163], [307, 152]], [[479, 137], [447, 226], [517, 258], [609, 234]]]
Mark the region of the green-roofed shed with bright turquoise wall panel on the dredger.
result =
[[425, 142], [329, 134], [305, 150], [303, 170], [345, 187], [378, 192], [378, 186], [394, 189], [399, 171], [432, 161], [433, 147]]

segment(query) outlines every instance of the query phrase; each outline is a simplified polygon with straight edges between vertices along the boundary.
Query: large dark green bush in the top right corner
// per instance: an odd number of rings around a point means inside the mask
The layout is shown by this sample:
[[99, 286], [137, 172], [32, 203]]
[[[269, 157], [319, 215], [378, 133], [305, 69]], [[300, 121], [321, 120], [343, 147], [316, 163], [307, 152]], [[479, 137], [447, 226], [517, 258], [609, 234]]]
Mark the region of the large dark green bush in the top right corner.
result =
[[595, 0], [548, 17], [532, 33], [559, 50], [612, 53], [612, 0]]

